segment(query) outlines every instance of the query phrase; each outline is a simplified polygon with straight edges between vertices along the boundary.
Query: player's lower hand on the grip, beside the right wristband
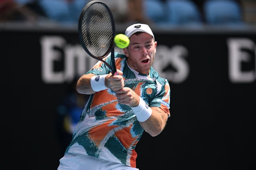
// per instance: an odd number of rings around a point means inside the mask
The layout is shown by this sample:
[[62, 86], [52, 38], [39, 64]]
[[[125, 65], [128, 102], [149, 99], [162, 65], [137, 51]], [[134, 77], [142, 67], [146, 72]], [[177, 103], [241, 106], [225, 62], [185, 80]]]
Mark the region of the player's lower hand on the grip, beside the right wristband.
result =
[[127, 106], [138, 106], [140, 103], [139, 96], [130, 88], [124, 87], [120, 90], [116, 90], [116, 98], [120, 104]]

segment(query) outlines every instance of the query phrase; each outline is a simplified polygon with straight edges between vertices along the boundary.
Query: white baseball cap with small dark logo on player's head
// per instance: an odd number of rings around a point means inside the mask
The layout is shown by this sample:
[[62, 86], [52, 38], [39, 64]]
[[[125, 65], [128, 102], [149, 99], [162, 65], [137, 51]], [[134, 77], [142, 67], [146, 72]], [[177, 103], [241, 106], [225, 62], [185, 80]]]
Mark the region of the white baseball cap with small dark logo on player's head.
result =
[[135, 23], [131, 26], [129, 26], [126, 31], [125, 31], [125, 35], [130, 38], [130, 36], [136, 32], [139, 32], [139, 31], [142, 31], [142, 32], [145, 32], [145, 33], [148, 33], [150, 35], [152, 35], [152, 37], [154, 38], [154, 41], [155, 41], [155, 37], [154, 37], [154, 34], [152, 32], [152, 30], [150, 29], [150, 27], [146, 24], [143, 24], [143, 23]]

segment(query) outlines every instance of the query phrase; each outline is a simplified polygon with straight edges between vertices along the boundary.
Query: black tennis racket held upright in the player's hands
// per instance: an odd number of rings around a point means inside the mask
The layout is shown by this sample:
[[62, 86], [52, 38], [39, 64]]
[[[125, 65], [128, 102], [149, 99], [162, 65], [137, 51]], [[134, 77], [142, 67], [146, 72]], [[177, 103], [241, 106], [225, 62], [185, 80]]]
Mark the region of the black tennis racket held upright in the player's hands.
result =
[[[93, 0], [86, 4], [78, 21], [80, 44], [94, 59], [102, 61], [116, 75], [114, 59], [115, 22], [108, 6], [101, 1]], [[111, 52], [111, 63], [103, 59]]]

